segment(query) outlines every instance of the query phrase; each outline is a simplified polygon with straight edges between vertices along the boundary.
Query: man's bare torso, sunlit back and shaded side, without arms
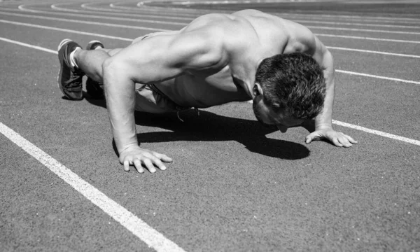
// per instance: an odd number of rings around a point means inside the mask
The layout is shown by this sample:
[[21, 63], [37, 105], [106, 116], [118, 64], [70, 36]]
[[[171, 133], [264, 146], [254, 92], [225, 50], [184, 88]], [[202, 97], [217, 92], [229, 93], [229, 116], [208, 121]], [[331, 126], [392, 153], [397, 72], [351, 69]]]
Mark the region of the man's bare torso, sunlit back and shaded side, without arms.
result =
[[[186, 33], [207, 33], [210, 38], [208, 43], [223, 43], [228, 52], [226, 57], [216, 69], [190, 71], [155, 85], [176, 104], [198, 108], [251, 99], [245, 85], [253, 83], [261, 59], [304, 51], [300, 41], [305, 34], [309, 38], [312, 36], [302, 25], [258, 10], [203, 15], [181, 31], [170, 32], [169, 36], [183, 36]], [[145, 40], [165, 34], [168, 33], [146, 35]], [[141, 46], [145, 40], [136, 43]]]

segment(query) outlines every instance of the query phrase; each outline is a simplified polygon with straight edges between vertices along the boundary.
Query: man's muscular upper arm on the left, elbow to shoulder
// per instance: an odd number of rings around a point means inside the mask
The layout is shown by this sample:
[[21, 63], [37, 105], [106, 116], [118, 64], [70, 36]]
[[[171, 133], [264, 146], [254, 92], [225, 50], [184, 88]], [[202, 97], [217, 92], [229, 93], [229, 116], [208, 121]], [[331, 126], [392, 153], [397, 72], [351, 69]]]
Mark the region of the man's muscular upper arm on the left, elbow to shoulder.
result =
[[114, 57], [127, 66], [133, 80], [153, 83], [213, 66], [220, 56], [208, 42], [190, 34], [155, 36], [128, 46]]

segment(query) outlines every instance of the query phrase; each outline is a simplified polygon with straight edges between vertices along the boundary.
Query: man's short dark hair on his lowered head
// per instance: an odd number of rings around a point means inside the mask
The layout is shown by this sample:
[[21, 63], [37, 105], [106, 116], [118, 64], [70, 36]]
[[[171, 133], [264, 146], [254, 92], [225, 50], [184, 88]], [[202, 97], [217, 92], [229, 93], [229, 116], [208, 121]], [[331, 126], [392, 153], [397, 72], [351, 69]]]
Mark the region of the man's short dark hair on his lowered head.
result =
[[264, 102], [274, 112], [296, 119], [312, 119], [321, 113], [325, 80], [321, 66], [301, 52], [263, 59], [255, 75], [264, 92]]

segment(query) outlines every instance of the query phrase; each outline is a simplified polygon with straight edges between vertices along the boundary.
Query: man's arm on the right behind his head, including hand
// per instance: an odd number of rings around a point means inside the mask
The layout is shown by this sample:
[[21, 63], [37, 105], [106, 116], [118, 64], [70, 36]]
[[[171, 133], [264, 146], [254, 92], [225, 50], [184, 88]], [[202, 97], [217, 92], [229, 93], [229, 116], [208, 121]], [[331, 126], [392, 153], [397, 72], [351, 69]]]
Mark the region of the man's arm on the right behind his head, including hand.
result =
[[332, 129], [332, 106], [334, 105], [335, 95], [334, 60], [331, 52], [325, 48], [325, 45], [316, 36], [314, 36], [314, 43], [312, 45], [314, 46], [312, 57], [323, 69], [326, 92], [323, 110], [315, 118], [315, 131], [307, 135], [305, 142], [309, 144], [311, 141], [328, 139], [335, 146], [350, 147], [353, 144], [357, 144], [357, 141], [342, 132], [336, 132]]

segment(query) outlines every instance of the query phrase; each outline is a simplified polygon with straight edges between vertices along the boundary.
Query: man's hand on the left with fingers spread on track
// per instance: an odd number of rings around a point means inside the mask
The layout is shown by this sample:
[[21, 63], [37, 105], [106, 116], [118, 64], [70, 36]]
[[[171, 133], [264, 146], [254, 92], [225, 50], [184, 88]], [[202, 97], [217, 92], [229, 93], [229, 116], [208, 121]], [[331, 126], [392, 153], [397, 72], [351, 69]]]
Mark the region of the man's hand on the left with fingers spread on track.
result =
[[147, 167], [151, 173], [156, 172], [155, 167], [158, 167], [161, 170], [165, 170], [166, 167], [163, 165], [162, 161], [172, 162], [172, 158], [169, 158], [164, 154], [140, 148], [138, 145], [132, 145], [128, 148], [125, 148], [124, 151], [120, 153], [120, 163], [124, 165], [125, 172], [130, 171], [130, 165], [136, 167], [137, 172], [140, 173], [144, 172], [142, 165]]

